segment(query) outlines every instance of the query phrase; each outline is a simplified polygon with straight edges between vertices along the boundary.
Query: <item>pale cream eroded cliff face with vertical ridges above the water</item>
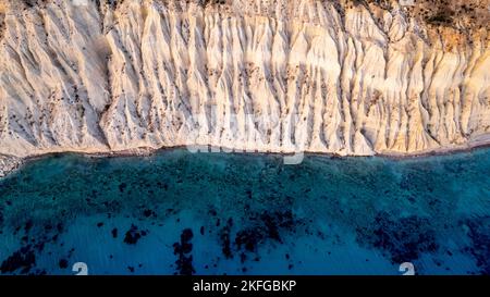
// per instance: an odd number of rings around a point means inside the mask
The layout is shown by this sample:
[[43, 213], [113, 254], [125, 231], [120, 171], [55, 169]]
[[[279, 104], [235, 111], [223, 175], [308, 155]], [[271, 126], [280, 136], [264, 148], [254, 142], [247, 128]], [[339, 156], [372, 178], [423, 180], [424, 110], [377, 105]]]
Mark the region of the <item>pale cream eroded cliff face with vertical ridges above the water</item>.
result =
[[490, 140], [485, 22], [429, 25], [395, 1], [24, 2], [0, 9], [0, 154]]

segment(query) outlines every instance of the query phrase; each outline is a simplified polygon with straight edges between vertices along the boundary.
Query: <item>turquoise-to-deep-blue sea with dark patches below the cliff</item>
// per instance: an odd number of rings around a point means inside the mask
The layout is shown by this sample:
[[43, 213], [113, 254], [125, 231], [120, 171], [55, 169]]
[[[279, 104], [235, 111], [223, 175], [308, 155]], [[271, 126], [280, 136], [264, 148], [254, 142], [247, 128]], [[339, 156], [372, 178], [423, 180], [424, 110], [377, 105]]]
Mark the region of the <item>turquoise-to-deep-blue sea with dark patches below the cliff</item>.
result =
[[60, 154], [0, 180], [0, 272], [490, 273], [490, 149], [406, 160]]

